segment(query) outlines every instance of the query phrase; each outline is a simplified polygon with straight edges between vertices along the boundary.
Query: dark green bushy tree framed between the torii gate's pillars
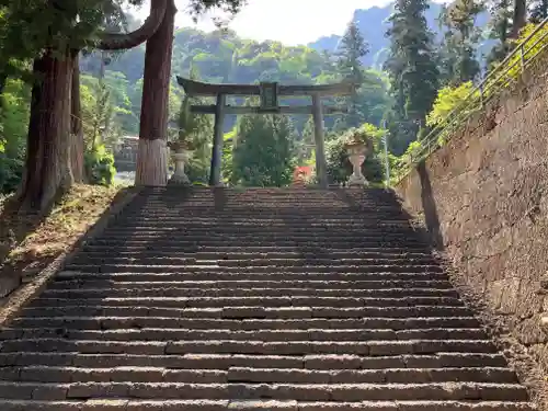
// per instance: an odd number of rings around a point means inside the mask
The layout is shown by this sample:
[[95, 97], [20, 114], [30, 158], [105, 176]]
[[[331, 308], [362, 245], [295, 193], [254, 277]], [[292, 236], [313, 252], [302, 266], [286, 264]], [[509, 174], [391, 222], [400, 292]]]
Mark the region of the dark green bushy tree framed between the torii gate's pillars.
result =
[[242, 116], [231, 182], [243, 186], [288, 185], [295, 169], [294, 139], [293, 125], [285, 116]]

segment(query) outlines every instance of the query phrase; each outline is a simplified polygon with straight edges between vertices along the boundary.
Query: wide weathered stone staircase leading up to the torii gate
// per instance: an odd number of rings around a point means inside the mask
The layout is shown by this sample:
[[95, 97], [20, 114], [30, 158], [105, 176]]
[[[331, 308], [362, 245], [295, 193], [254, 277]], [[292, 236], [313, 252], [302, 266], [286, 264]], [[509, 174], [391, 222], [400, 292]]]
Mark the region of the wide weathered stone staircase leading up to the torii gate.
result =
[[1, 411], [534, 409], [380, 190], [148, 190], [0, 339]]

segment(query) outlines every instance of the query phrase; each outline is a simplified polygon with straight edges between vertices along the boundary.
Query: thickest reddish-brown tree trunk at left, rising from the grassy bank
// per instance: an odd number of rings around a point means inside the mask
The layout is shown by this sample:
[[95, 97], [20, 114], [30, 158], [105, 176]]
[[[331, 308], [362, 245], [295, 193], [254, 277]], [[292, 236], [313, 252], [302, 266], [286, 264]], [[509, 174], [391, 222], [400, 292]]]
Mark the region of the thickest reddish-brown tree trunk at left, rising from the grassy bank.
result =
[[70, 92], [73, 58], [69, 50], [47, 50], [34, 60], [37, 77], [32, 89], [23, 207], [47, 209], [72, 182], [70, 149]]

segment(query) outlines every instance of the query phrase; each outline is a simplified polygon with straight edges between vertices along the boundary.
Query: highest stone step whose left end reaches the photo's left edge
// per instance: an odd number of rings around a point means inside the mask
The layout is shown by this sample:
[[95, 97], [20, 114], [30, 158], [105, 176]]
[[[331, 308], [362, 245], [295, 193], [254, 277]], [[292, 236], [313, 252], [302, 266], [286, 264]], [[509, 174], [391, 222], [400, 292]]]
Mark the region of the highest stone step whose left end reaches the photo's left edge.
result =
[[419, 329], [419, 330], [190, 330], [168, 328], [118, 329], [118, 330], [62, 330], [55, 328], [3, 329], [0, 341], [13, 339], [110, 340], [110, 341], [184, 341], [184, 340], [238, 340], [248, 341], [373, 341], [373, 340], [486, 340], [480, 328], [467, 329]]

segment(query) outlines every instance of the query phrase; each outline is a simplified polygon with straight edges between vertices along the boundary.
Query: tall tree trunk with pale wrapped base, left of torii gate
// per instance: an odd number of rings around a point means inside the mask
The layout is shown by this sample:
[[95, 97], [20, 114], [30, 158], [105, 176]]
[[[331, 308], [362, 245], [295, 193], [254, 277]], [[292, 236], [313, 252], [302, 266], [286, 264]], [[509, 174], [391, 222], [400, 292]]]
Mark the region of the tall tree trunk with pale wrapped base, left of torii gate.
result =
[[136, 185], [168, 183], [168, 102], [175, 12], [173, 0], [169, 0], [162, 24], [147, 42]]

